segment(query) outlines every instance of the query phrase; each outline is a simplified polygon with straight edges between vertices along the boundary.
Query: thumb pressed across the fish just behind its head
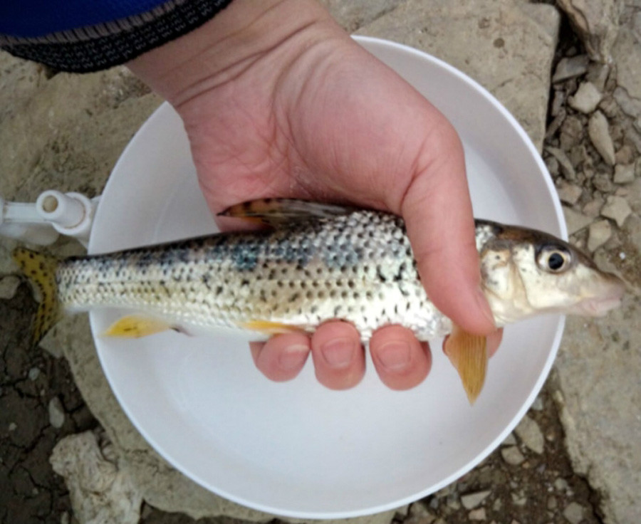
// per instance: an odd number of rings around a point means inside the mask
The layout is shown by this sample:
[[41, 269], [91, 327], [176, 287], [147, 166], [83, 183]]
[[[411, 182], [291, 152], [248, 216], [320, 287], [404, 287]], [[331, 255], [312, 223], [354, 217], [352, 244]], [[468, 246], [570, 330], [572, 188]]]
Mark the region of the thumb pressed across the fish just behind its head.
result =
[[[429, 152], [402, 201], [402, 216], [427, 294], [445, 315], [474, 334], [494, 331], [481, 292], [479, 254], [461, 142], [437, 113]], [[437, 153], [434, 153], [437, 152]]]

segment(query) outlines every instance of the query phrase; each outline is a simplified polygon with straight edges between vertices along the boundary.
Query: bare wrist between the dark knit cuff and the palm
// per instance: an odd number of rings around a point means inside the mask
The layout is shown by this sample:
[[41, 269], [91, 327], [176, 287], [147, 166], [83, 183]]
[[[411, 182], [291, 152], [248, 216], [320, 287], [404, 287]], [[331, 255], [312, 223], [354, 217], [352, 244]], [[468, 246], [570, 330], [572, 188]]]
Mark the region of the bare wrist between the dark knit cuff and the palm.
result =
[[337, 29], [343, 33], [316, 0], [234, 0], [212, 20], [127, 67], [179, 108], [264, 56], [281, 51], [282, 66]]

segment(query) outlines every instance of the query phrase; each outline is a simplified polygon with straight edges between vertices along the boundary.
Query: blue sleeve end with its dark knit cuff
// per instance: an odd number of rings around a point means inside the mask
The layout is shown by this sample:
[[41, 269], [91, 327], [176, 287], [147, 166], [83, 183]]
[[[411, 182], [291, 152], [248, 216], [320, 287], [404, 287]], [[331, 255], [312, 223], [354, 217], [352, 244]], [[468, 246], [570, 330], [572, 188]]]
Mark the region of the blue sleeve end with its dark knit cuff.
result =
[[231, 0], [0, 0], [0, 48], [85, 73], [132, 60], [212, 19]]

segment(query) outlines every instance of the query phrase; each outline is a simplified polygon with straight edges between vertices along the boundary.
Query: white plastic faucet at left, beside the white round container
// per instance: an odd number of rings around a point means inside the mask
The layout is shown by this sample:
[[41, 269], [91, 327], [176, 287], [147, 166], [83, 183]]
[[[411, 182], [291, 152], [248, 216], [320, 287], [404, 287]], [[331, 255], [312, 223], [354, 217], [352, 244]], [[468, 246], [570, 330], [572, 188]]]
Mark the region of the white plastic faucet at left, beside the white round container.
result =
[[63, 234], [86, 247], [98, 198], [55, 190], [43, 192], [35, 204], [7, 202], [0, 197], [0, 234], [41, 246]]

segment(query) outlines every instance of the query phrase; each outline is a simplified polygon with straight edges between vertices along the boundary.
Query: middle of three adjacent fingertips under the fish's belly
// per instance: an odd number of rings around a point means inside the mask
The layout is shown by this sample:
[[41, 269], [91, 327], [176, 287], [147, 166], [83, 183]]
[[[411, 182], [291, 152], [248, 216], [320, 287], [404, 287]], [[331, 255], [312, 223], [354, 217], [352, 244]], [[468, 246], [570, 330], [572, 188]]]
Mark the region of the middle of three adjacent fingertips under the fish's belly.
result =
[[330, 389], [354, 387], [365, 374], [365, 352], [356, 328], [333, 320], [320, 325], [311, 340], [318, 382]]

